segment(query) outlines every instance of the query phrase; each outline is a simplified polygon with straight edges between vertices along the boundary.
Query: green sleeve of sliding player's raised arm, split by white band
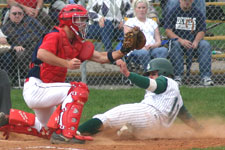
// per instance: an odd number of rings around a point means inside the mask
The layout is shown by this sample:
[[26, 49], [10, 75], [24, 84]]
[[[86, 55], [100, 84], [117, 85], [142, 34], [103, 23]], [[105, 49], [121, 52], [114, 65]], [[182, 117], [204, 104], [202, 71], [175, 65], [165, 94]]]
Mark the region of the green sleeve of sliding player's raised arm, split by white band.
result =
[[[136, 86], [147, 89], [150, 86], [150, 79], [148, 77], [131, 72], [128, 79]], [[167, 88], [167, 79], [163, 76], [159, 76], [156, 79], [157, 89], [154, 91], [156, 94], [163, 93]]]

